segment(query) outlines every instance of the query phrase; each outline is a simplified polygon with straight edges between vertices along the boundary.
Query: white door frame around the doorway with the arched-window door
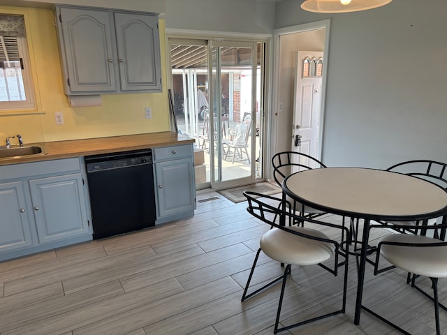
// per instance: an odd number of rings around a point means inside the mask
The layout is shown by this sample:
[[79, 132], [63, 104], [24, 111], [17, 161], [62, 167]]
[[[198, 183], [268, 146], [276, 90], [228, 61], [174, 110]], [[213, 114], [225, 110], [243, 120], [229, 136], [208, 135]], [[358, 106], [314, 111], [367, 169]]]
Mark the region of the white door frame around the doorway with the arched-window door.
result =
[[[285, 28], [279, 28], [274, 29], [273, 34], [273, 49], [274, 49], [274, 65], [273, 65], [273, 89], [272, 89], [272, 107], [271, 110], [272, 113], [269, 114], [268, 117], [268, 123], [272, 124], [270, 134], [270, 148], [268, 150], [268, 155], [271, 157], [274, 153], [276, 153], [278, 150], [277, 148], [277, 134], [284, 133], [284, 129], [279, 129], [279, 125], [277, 122], [277, 117], [275, 117], [280, 108], [279, 108], [279, 77], [281, 75], [281, 36], [286, 34], [296, 34], [296, 33], [305, 33], [307, 31], [314, 31], [319, 29], [325, 29], [325, 37], [324, 37], [324, 61], [323, 61], [323, 80], [322, 80], [322, 87], [321, 87], [321, 105], [320, 105], [320, 141], [318, 143], [318, 157], [316, 157], [318, 160], [321, 160], [321, 157], [323, 156], [323, 131], [324, 131], [324, 114], [325, 114], [325, 96], [326, 96], [326, 87], [327, 87], [327, 80], [328, 80], [328, 59], [329, 59], [329, 40], [330, 40], [330, 19], [328, 20], [322, 20], [317, 22], [310, 22], [306, 24], [298, 24], [296, 26], [291, 27], [285, 27]], [[298, 50], [297, 50], [298, 51]], [[291, 89], [293, 90], [293, 89]], [[291, 129], [288, 129], [288, 131], [291, 131]], [[290, 145], [286, 148], [286, 150], [290, 149]], [[266, 176], [269, 176], [270, 179], [272, 179], [272, 167], [270, 166], [270, 169], [265, 170]]]

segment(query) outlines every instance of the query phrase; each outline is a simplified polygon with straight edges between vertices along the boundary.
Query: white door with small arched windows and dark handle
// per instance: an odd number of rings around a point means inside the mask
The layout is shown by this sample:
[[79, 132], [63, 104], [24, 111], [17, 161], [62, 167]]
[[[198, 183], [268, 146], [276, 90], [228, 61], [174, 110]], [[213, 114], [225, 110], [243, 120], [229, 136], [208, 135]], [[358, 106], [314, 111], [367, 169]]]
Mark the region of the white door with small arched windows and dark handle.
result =
[[297, 52], [295, 69], [291, 150], [319, 159], [323, 52]]

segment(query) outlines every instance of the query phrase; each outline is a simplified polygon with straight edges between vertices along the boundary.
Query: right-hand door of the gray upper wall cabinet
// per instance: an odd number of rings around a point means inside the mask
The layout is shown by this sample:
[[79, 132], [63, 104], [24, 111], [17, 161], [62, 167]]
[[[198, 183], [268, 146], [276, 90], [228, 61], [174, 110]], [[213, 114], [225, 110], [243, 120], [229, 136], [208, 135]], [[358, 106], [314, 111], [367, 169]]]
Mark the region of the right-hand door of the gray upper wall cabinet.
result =
[[115, 13], [122, 91], [161, 91], [159, 18]]

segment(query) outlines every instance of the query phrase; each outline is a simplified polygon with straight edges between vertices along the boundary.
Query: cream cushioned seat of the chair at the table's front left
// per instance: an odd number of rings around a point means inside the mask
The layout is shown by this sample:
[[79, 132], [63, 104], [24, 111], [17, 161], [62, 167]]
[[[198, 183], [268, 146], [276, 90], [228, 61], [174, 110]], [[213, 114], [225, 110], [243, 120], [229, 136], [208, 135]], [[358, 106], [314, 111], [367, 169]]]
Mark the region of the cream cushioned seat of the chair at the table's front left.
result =
[[[318, 230], [295, 226], [289, 228], [303, 234], [329, 239]], [[333, 244], [300, 237], [279, 228], [265, 232], [260, 244], [263, 252], [272, 260], [290, 265], [315, 265], [328, 260], [335, 250]]]

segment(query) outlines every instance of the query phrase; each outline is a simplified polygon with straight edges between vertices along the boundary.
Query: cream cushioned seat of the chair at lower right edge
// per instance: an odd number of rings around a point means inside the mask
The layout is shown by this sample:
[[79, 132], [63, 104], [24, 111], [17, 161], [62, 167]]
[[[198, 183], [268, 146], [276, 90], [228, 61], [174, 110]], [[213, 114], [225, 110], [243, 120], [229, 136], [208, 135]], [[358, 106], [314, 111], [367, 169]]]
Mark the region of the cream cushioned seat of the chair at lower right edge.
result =
[[[401, 243], [439, 243], [439, 239], [432, 239], [414, 234], [389, 234], [381, 241]], [[442, 278], [447, 277], [447, 246], [392, 246], [383, 244], [381, 255], [391, 264], [422, 276]]]

